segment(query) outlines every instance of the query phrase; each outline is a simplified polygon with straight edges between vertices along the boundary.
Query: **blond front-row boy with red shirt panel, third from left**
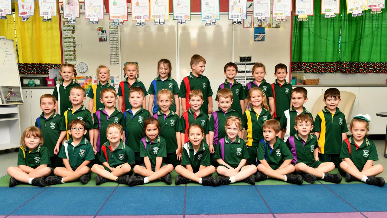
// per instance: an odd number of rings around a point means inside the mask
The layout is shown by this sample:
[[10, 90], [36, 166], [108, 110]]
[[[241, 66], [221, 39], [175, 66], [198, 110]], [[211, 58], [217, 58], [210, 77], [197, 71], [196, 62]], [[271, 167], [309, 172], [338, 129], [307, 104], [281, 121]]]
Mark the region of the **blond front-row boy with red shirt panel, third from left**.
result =
[[123, 128], [120, 124], [111, 123], [106, 129], [108, 141], [101, 147], [99, 161], [102, 165], [94, 164], [91, 168], [96, 173], [96, 185], [101, 185], [108, 180], [113, 180], [119, 184], [129, 185], [129, 175], [127, 175], [134, 164], [134, 152], [126, 146], [122, 140]]

